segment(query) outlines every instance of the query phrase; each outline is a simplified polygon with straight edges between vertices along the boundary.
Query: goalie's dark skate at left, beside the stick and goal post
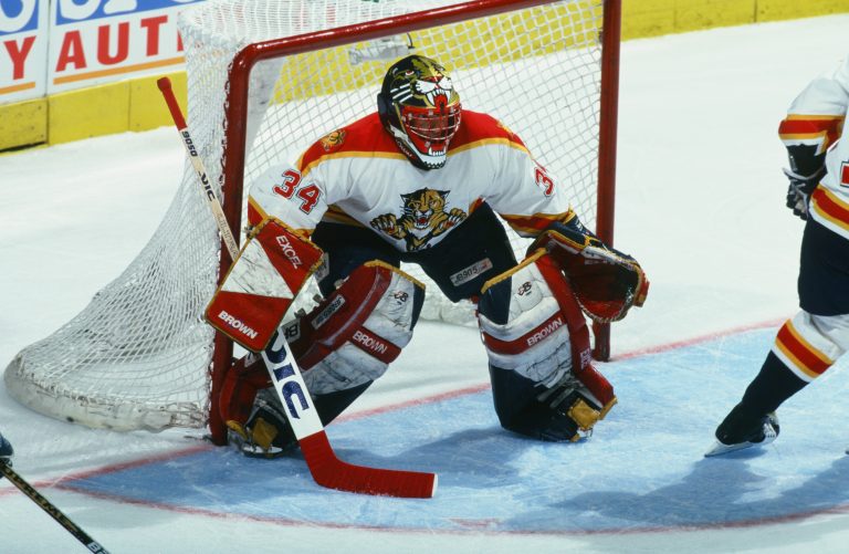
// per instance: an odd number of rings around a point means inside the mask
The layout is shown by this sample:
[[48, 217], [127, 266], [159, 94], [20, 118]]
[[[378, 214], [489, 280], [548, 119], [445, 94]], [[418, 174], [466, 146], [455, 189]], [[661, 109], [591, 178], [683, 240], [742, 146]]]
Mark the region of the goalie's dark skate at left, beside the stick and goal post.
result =
[[256, 394], [253, 411], [244, 426], [235, 421], [228, 421], [227, 426], [230, 442], [250, 458], [277, 458], [297, 442], [280, 399], [270, 388]]

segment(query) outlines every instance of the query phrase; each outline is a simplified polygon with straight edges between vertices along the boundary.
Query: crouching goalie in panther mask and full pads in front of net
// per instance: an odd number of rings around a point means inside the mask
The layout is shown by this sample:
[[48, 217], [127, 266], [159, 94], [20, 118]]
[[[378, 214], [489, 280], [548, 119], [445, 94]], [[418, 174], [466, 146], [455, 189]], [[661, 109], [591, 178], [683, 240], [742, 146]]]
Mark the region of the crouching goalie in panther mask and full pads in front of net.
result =
[[[524, 260], [499, 216], [535, 239]], [[614, 322], [642, 305], [643, 271], [580, 223], [518, 136], [462, 108], [434, 60], [395, 62], [375, 113], [327, 134], [294, 166], [269, 168], [251, 186], [249, 220], [249, 241], [207, 312], [253, 352], [227, 373], [218, 406], [245, 454], [295, 443], [254, 354], [277, 328], [325, 425], [397, 359], [424, 297], [401, 262], [421, 266], [452, 302], [478, 304], [505, 429], [576, 441], [616, 403], [590, 363], [585, 316]], [[283, 322], [314, 269], [319, 302]]]

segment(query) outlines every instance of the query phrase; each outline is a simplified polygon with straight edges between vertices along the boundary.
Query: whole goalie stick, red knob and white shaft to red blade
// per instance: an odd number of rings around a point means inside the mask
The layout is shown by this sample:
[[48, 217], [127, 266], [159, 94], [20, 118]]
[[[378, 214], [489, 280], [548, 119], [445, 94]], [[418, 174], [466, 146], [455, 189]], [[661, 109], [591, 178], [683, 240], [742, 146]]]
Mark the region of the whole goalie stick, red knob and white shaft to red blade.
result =
[[[168, 77], [163, 77], [157, 81], [157, 85], [168, 104], [177, 130], [182, 137], [191, 165], [198, 174], [198, 179], [203, 187], [230, 259], [235, 260], [239, 254], [239, 247], [230, 226], [227, 223], [227, 218], [224, 218], [221, 201], [209, 184], [203, 163], [198, 155], [171, 88], [171, 82]], [[310, 473], [316, 483], [328, 489], [360, 494], [421, 499], [433, 496], [437, 490], [436, 473], [355, 466], [336, 457], [304, 384], [301, 369], [297, 367], [289, 343], [282, 333], [277, 333], [272, 338], [270, 345], [263, 351], [262, 358], [274, 384], [274, 390], [277, 391], [283, 403], [289, 424], [295, 433], [306, 466], [310, 468]]]

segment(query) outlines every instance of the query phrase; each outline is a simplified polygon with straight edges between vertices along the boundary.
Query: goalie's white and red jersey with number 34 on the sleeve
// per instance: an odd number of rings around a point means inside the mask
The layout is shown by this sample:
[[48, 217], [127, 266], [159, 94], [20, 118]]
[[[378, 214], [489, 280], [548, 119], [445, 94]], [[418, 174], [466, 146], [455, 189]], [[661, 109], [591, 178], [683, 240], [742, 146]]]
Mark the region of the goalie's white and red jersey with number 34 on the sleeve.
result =
[[254, 226], [275, 217], [307, 234], [319, 221], [363, 226], [415, 252], [444, 240], [484, 201], [524, 237], [572, 215], [556, 179], [493, 117], [464, 109], [446, 165], [422, 170], [375, 113], [317, 140], [294, 167], [265, 171], [251, 187], [248, 216]]

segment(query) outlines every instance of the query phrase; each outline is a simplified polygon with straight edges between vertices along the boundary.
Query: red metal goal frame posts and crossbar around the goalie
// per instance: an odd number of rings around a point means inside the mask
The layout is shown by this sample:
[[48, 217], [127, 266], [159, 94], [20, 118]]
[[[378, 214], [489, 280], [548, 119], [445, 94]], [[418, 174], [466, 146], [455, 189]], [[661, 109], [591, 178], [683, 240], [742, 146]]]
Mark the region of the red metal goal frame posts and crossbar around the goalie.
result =
[[[403, 15], [389, 17], [366, 23], [256, 42], [247, 45], [234, 58], [228, 73], [229, 93], [224, 109], [227, 136], [222, 156], [221, 190], [223, 210], [233, 234], [239, 237], [242, 217], [242, 190], [245, 166], [248, 94], [250, 74], [254, 65], [271, 58], [283, 58], [318, 49], [343, 46], [381, 36], [403, 34], [422, 29], [457, 23], [478, 17], [497, 15], [515, 10], [552, 3], [554, 0], [473, 0], [454, 6], [432, 8]], [[621, 29], [621, 0], [604, 0], [601, 28], [601, 75], [599, 96], [599, 153], [596, 234], [607, 244], [614, 244], [616, 196], [616, 142], [619, 95], [619, 43]], [[232, 260], [221, 244], [219, 281], [227, 274]], [[607, 360], [610, 356], [609, 324], [594, 324], [594, 357]], [[227, 428], [214, 399], [218, 398], [224, 369], [232, 363], [233, 343], [216, 332], [210, 363], [213, 399], [209, 414], [210, 437], [213, 443], [227, 442]]]

